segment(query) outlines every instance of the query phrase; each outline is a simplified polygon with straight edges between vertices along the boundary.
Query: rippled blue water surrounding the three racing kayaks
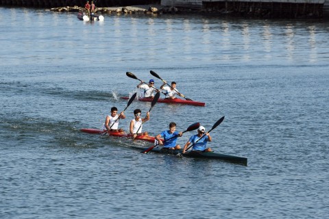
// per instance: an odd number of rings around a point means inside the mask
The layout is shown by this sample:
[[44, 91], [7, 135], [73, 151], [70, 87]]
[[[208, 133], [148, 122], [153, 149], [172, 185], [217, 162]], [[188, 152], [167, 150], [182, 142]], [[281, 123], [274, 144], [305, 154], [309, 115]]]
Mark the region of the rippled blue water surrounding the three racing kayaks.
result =
[[[0, 8], [1, 218], [326, 218], [329, 23]], [[248, 166], [141, 154], [88, 135], [154, 70], [206, 107], [158, 103], [144, 130], [206, 129]], [[160, 86], [160, 80], [156, 86]], [[134, 102], [132, 111], [149, 103]], [[192, 133], [179, 139], [184, 145]]]

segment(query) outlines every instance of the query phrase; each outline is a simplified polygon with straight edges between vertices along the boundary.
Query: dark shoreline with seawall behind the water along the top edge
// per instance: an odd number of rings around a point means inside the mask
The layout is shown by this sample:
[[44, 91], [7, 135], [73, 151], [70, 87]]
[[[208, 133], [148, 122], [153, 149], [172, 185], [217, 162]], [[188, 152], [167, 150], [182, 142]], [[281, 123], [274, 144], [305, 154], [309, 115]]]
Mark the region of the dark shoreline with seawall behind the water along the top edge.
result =
[[[250, 18], [329, 18], [329, 0], [95, 0], [98, 8], [163, 3], [179, 13], [202, 12]], [[86, 0], [0, 0], [0, 6], [84, 7]]]

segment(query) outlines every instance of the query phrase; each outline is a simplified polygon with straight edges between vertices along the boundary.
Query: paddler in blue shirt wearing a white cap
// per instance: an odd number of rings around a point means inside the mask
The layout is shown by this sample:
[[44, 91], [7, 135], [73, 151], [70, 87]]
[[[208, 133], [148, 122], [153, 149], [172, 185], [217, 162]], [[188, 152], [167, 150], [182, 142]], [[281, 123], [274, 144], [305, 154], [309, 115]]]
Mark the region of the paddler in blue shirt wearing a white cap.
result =
[[[206, 132], [206, 129], [200, 125], [199, 129], [197, 129], [197, 134], [194, 136], [191, 136], [191, 138], [186, 142], [184, 145], [184, 149], [182, 153], [185, 153], [186, 148], [192, 143], [193, 148], [192, 151], [202, 151], [202, 152], [210, 152], [211, 149], [207, 148], [207, 142], [211, 142], [211, 136], [208, 132]], [[197, 142], [197, 143], [195, 143]]]

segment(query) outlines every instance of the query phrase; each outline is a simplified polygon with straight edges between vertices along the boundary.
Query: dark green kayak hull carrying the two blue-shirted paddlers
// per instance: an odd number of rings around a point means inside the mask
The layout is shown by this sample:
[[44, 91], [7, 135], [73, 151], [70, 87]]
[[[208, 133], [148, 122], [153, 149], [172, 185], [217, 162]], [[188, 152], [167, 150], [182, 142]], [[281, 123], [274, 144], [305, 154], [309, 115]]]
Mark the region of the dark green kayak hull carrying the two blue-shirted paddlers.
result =
[[[145, 151], [145, 148], [132, 146], [134, 149], [138, 149], [141, 151]], [[182, 149], [180, 150], [168, 150], [163, 148], [154, 148], [150, 152], [154, 153], [163, 153], [163, 154], [171, 154], [171, 155], [180, 155], [182, 157], [195, 157], [195, 158], [204, 158], [204, 159], [219, 159], [224, 162], [230, 162], [232, 164], [241, 164], [243, 166], [247, 166], [247, 158], [245, 157], [237, 157], [233, 155], [224, 155], [221, 153], [215, 152], [202, 152], [202, 151], [190, 151], [186, 153], [182, 153]]]

